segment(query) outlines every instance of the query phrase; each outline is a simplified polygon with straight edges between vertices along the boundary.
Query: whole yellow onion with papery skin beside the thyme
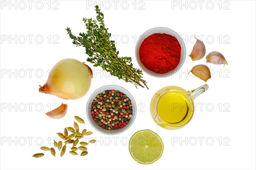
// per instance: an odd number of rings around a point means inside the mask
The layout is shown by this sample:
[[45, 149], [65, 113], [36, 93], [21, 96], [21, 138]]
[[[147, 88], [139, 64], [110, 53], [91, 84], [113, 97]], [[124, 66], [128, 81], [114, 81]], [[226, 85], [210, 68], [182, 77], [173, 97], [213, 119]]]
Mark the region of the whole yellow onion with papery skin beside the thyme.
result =
[[78, 99], [90, 88], [92, 70], [84, 62], [76, 59], [62, 59], [51, 70], [39, 92], [52, 94], [62, 99]]

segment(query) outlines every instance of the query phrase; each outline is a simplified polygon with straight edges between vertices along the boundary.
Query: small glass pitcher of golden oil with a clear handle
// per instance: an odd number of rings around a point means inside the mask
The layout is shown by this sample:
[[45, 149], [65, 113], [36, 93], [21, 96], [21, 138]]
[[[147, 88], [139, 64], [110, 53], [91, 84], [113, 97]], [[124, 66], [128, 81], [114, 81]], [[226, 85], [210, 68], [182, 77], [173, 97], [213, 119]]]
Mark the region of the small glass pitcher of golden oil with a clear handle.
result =
[[184, 127], [194, 113], [193, 100], [208, 89], [202, 85], [192, 91], [177, 86], [167, 86], [158, 90], [151, 99], [150, 113], [154, 122], [165, 129]]

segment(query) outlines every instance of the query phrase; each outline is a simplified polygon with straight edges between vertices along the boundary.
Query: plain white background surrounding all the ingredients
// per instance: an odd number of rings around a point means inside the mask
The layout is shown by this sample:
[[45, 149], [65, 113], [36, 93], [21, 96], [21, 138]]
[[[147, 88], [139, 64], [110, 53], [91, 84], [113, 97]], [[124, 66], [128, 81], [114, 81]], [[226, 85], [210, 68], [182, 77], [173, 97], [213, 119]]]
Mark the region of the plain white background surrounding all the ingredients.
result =
[[[37, 1], [32, 2], [31, 9], [29, 3], [24, 1], [26, 8], [23, 10], [21, 8], [24, 8], [24, 4], [19, 2], [16, 1], [15, 9], [15, 6], [9, 6], [9, 1], [1, 1], [1, 169], [256, 169], [255, 1], [203, 1], [201, 7], [198, 1], [182, 1], [185, 6], [181, 6], [180, 1], [118, 1], [116, 9], [113, 1], [102, 1], [105, 26], [112, 35], [119, 36], [116, 39], [119, 56], [131, 56], [135, 67], [138, 65], [134, 57], [134, 36], [138, 37], [149, 28], [157, 26], [171, 28], [180, 34], [184, 38], [187, 55], [192, 51], [195, 42], [193, 35], [201, 36], [207, 54], [220, 51], [226, 57], [228, 65], [223, 68], [223, 65], [206, 63], [205, 58], [192, 62], [190, 57], [186, 57], [181, 69], [183, 74], [179, 72], [167, 78], [154, 78], [145, 74], [149, 87], [147, 90], [136, 89], [133, 85], [114, 77], [104, 77], [104, 74], [100, 74], [103, 73], [101, 68], [94, 68], [88, 63], [98, 74], [93, 78], [88, 93], [77, 100], [39, 94], [38, 85], [44, 85], [48, 77], [47, 71], [59, 60], [75, 58], [86, 61], [85, 49], [72, 44], [65, 28], [70, 27], [76, 35], [85, 31], [82, 18], [95, 19], [93, 5], [90, 6], [94, 1], [58, 0], [48, 3], [47, 0], [42, 1], [44, 6], [41, 10], [37, 9], [41, 7]], [[15, 1], [12, 3], [15, 4]], [[35, 6], [35, 3], [38, 6]], [[125, 10], [126, 3], [129, 6]], [[111, 9], [108, 9], [109, 4]], [[197, 8], [192, 9], [195, 5]], [[53, 10], [54, 6], [58, 9]], [[15, 35], [17, 42], [9, 41], [9, 36], [15, 38]], [[31, 43], [28, 35], [33, 36]], [[35, 40], [38, 35], [44, 38], [41, 44], [40, 38], [37, 42]], [[53, 37], [54, 35], [56, 36]], [[125, 43], [125, 37], [121, 41], [121, 36], [128, 37], [128, 42]], [[26, 37], [26, 42], [23, 37]], [[58, 37], [55, 41], [58, 44], [53, 43]], [[165, 130], [157, 126], [149, 113], [151, 97], [158, 89], [168, 85], [177, 85], [186, 90], [203, 85], [204, 81], [201, 79], [186, 74], [198, 64], [206, 64], [213, 72], [213, 77], [207, 81], [208, 91], [195, 99], [198, 107], [199, 103], [203, 103], [202, 108], [195, 111], [191, 122], [182, 129]], [[10, 71], [15, 72], [15, 69], [16, 75], [9, 74]], [[25, 77], [22, 69], [26, 70]], [[31, 76], [27, 69], [33, 69]], [[38, 69], [43, 71], [42, 77], [40, 71], [35, 73]], [[109, 136], [93, 130], [85, 115], [85, 106], [90, 94], [108, 84], [128, 89], [140, 108], [134, 125], [129, 130], [117, 136], [110, 136], [110, 146], [107, 146], [109, 140], [106, 138]], [[49, 111], [49, 105], [53, 109], [56, 102], [67, 103], [69, 107], [67, 115], [58, 120], [44, 114]], [[33, 103], [31, 110], [27, 103]], [[43, 111], [35, 108], [37, 103], [44, 106]], [[11, 108], [11, 105], [14, 108]], [[49, 147], [49, 138], [52, 145], [52, 138], [56, 137], [57, 132], [73, 125], [74, 115], [83, 118], [87, 123], [81, 128], [93, 131], [92, 136], [102, 140], [102, 143], [90, 145], [89, 154], [84, 157], [72, 156], [68, 153], [69, 150], [60, 157], [56, 150], [56, 157], [44, 152], [44, 157], [33, 158], [34, 153], [41, 152], [41, 146]], [[134, 161], [126, 144], [126, 139], [130, 139], [136, 131], [142, 129], [153, 130], [164, 142], [163, 156], [150, 165]], [[119, 137], [116, 144], [113, 137]], [[121, 142], [122, 137], [124, 140]], [[187, 144], [180, 143], [180, 139], [186, 141], [186, 137]], [[201, 144], [200, 137], [204, 138]], [[174, 142], [176, 139], [179, 141]], [[197, 139], [197, 143], [192, 146], [194, 139]], [[211, 139], [214, 140], [213, 144]], [[209, 146], [210, 144], [212, 146]]]

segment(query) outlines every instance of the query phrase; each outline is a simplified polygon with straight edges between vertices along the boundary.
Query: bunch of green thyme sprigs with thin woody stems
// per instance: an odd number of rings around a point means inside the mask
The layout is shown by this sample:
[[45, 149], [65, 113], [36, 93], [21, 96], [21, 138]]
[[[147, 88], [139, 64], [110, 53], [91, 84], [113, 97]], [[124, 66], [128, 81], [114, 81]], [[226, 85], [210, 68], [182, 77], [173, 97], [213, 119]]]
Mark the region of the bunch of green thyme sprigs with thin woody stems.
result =
[[131, 57], [118, 57], [119, 51], [116, 51], [115, 41], [110, 40], [111, 33], [108, 32], [108, 28], [105, 28], [104, 15], [99, 6], [95, 6], [95, 10], [98, 23], [92, 18], [83, 18], [87, 28], [86, 33], [79, 33], [79, 36], [76, 37], [71, 33], [70, 28], [66, 28], [73, 44], [85, 48], [86, 54], [89, 56], [87, 61], [93, 63], [93, 66], [101, 66], [103, 70], [118, 79], [131, 82], [136, 88], [138, 85], [148, 88], [147, 82], [142, 79], [142, 70], [133, 67]]

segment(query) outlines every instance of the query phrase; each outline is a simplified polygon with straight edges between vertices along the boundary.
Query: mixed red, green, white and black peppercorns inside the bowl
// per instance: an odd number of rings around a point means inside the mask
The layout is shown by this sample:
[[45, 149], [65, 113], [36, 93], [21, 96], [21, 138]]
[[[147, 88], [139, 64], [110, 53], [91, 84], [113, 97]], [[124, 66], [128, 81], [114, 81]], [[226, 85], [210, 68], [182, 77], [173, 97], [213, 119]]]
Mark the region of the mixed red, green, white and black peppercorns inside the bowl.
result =
[[93, 120], [107, 130], [123, 128], [132, 117], [132, 104], [120, 91], [106, 90], [97, 94], [92, 102]]

